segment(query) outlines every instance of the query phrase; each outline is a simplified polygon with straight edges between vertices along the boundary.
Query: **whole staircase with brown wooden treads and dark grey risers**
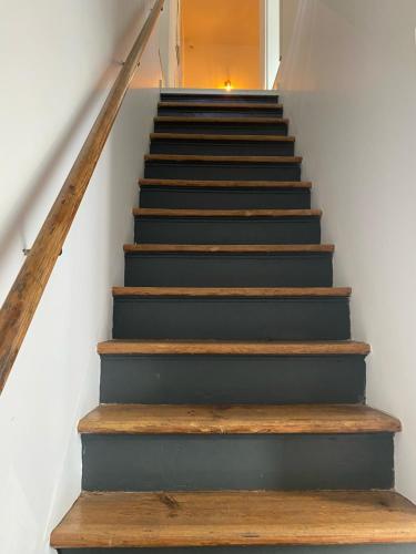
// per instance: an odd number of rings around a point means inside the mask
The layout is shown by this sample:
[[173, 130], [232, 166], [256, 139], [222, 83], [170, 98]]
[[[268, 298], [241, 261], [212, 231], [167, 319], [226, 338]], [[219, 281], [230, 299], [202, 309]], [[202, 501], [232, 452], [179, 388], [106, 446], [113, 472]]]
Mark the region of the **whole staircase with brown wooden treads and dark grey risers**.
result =
[[365, 404], [369, 347], [282, 115], [162, 93], [60, 553], [416, 552], [400, 423]]

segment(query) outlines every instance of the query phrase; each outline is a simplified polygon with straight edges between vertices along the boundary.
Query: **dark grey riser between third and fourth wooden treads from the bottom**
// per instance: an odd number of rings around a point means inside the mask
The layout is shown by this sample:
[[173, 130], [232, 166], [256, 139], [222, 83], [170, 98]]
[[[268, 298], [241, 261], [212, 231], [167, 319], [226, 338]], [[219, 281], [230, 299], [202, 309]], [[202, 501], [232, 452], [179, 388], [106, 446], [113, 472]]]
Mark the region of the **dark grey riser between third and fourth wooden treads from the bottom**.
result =
[[124, 339], [343, 340], [347, 298], [115, 297], [113, 337]]

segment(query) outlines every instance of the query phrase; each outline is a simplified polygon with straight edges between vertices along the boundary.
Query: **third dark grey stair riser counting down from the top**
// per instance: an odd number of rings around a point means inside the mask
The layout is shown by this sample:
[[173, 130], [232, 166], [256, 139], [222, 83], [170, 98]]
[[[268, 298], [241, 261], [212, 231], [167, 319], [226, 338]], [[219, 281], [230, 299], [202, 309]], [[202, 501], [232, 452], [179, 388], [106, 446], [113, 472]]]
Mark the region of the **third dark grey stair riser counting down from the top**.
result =
[[202, 134], [232, 134], [232, 135], [287, 135], [287, 123], [250, 123], [250, 122], [172, 122], [155, 121], [155, 133], [202, 133]]

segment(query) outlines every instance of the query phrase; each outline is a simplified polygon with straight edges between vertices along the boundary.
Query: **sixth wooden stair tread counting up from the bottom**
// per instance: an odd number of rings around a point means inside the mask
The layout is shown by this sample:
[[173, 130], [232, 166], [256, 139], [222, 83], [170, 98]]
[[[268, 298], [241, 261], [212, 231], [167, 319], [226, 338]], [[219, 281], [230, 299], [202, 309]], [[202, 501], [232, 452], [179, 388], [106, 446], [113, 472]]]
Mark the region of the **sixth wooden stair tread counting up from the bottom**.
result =
[[321, 209], [169, 209], [133, 208], [135, 216], [158, 217], [321, 217]]

